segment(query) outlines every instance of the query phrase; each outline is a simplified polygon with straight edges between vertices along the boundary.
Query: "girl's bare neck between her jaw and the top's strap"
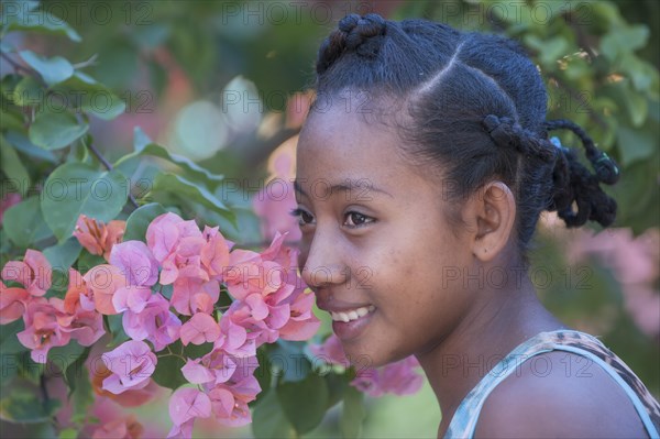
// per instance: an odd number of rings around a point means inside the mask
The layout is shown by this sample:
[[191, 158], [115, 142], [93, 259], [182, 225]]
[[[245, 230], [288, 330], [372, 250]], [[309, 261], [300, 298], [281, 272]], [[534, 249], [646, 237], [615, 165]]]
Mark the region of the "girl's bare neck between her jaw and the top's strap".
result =
[[480, 292], [480, 303], [433, 350], [418, 355], [442, 413], [444, 435], [465, 395], [514, 348], [565, 326], [538, 300], [529, 278], [515, 289]]

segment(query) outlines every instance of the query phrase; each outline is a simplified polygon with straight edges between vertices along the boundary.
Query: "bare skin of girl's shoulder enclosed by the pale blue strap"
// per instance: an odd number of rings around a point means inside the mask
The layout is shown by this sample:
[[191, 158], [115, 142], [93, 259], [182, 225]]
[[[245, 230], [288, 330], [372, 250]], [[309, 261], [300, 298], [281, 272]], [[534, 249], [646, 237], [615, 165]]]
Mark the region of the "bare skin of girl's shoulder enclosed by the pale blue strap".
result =
[[647, 436], [630, 398], [604, 370], [586, 365], [580, 372], [575, 366], [584, 358], [574, 353], [553, 351], [538, 359], [488, 395], [475, 438]]

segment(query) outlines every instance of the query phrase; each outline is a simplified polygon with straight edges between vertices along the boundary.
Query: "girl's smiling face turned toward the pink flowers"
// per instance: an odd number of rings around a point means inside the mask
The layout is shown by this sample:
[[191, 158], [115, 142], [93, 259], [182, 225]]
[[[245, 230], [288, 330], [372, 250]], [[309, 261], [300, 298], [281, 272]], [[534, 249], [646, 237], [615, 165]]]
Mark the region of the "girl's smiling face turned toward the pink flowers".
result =
[[343, 103], [312, 112], [300, 133], [300, 266], [349, 360], [378, 366], [451, 332], [471, 303], [457, 278], [473, 257], [446, 219], [440, 178], [402, 157], [394, 129]]

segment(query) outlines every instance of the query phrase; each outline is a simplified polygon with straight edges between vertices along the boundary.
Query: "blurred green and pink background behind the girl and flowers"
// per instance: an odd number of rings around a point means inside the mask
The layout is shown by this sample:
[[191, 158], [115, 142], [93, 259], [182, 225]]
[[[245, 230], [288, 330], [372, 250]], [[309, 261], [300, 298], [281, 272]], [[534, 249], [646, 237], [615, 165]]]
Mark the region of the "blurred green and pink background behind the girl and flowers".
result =
[[[566, 230], [553, 216], [542, 218], [530, 254], [531, 279], [556, 315], [600, 337], [660, 396], [657, 1], [158, 0], [43, 7], [66, 20], [81, 42], [23, 33], [7, 40], [88, 63], [89, 74], [127, 102], [116, 120], [91, 120], [91, 134], [109, 160], [132, 151], [139, 125], [172, 152], [233, 178], [244, 190], [232, 200], [244, 208], [232, 231], [241, 242], [261, 242], [268, 234], [251, 211], [253, 198], [268, 176], [290, 172], [278, 171], [274, 158], [270, 167], [268, 157], [297, 134], [317, 48], [344, 14], [427, 18], [519, 41], [546, 79], [548, 118], [583, 125], [623, 169], [619, 184], [607, 188], [619, 202], [613, 228]], [[11, 66], [0, 68], [4, 75]], [[576, 145], [571, 135], [561, 140]], [[290, 155], [292, 145], [295, 140], [279, 155]], [[132, 178], [148, 176], [146, 164]], [[165, 398], [135, 413], [156, 431], [162, 420], [166, 432], [166, 410]], [[427, 385], [415, 396], [369, 399], [363, 436], [436, 437], [439, 419]], [[338, 422], [338, 410], [331, 410], [308, 436], [336, 436]], [[198, 420], [196, 437], [210, 436], [251, 437], [252, 431], [219, 430]]]

